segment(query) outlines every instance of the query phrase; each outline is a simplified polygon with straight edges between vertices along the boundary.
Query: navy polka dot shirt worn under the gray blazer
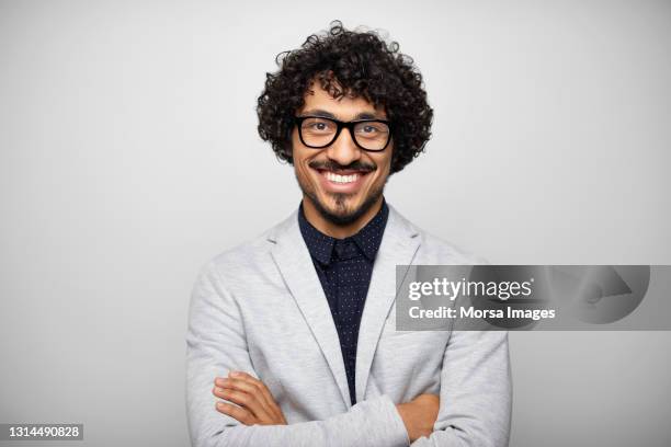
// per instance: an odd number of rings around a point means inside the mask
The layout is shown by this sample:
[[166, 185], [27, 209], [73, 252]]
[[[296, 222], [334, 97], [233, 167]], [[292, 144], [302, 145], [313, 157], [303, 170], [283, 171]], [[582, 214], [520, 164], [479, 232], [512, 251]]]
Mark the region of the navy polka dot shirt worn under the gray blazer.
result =
[[356, 234], [336, 239], [323, 234], [307, 221], [303, 204], [298, 213], [303, 239], [312, 257], [338, 330], [352, 405], [356, 402], [354, 371], [359, 325], [371, 284], [373, 263], [388, 216], [389, 208], [383, 202], [380, 210]]

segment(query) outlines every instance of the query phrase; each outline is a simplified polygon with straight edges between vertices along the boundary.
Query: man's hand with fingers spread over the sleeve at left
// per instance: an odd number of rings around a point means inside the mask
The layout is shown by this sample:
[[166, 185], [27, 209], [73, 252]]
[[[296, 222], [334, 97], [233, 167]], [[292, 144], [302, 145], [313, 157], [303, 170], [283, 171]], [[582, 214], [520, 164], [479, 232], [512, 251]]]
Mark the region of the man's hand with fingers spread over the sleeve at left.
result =
[[244, 425], [286, 425], [282, 410], [265, 383], [247, 373], [229, 373], [228, 377], [215, 378], [212, 392], [236, 403], [218, 401], [216, 409]]

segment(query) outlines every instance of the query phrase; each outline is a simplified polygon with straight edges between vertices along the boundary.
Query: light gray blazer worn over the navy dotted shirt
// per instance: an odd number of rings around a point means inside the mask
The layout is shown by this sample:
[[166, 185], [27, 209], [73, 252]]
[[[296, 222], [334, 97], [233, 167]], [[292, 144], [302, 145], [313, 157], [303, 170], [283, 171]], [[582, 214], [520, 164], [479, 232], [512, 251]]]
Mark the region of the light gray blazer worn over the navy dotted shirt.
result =
[[[373, 268], [351, 405], [338, 333], [294, 213], [207, 263], [193, 288], [186, 406], [195, 447], [407, 446], [395, 404], [440, 393], [434, 432], [412, 446], [507, 446], [505, 332], [395, 330], [396, 265], [476, 264], [389, 207]], [[288, 425], [246, 426], [215, 410], [216, 376], [262, 380]]]

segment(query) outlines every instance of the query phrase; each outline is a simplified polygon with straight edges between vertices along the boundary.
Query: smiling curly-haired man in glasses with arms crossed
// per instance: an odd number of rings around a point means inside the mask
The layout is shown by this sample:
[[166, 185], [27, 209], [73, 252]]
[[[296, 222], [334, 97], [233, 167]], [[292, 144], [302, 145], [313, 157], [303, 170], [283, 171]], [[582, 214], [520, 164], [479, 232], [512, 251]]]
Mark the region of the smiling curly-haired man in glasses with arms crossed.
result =
[[303, 200], [197, 279], [194, 446], [508, 445], [507, 333], [395, 330], [396, 265], [475, 263], [383, 196], [430, 137], [412, 60], [334, 22], [284, 54], [258, 114]]

